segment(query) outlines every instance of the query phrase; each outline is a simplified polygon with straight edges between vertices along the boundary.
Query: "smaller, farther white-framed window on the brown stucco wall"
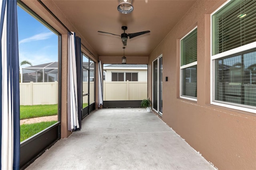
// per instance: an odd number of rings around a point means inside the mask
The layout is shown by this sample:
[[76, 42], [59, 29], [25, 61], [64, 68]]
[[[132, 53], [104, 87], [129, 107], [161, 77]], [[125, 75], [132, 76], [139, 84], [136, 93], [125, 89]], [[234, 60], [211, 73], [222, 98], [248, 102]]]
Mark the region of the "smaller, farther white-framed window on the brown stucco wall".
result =
[[197, 28], [180, 40], [180, 97], [197, 98]]

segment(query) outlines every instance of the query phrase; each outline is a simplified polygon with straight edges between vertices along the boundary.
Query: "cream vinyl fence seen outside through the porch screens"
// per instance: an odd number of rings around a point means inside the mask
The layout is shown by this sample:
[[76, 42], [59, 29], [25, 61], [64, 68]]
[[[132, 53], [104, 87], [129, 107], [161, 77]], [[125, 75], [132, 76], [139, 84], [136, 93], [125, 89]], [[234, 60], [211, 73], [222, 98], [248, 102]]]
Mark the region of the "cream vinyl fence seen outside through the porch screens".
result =
[[[103, 100], [142, 100], [147, 98], [145, 81], [104, 81]], [[83, 83], [84, 94], [88, 93], [88, 83]], [[88, 96], [83, 97], [83, 103]], [[94, 82], [90, 82], [90, 103], [94, 102]], [[54, 105], [58, 103], [58, 82], [20, 83], [20, 105]]]

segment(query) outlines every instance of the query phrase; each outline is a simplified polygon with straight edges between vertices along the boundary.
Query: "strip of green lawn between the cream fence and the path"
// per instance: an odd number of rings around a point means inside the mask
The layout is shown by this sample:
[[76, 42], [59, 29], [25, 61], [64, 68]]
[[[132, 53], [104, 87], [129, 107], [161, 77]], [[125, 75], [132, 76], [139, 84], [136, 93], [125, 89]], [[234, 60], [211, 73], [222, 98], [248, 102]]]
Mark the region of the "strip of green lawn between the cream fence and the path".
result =
[[58, 114], [58, 105], [20, 105], [20, 120]]

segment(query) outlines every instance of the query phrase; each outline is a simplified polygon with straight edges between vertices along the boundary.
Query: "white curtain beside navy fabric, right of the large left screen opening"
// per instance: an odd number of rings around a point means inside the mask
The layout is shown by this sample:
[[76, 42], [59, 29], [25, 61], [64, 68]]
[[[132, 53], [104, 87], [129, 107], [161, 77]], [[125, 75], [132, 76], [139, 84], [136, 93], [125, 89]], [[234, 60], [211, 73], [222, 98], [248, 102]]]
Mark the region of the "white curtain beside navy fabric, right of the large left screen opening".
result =
[[77, 101], [77, 76], [75, 55], [75, 34], [68, 36], [68, 130], [79, 128], [78, 101]]

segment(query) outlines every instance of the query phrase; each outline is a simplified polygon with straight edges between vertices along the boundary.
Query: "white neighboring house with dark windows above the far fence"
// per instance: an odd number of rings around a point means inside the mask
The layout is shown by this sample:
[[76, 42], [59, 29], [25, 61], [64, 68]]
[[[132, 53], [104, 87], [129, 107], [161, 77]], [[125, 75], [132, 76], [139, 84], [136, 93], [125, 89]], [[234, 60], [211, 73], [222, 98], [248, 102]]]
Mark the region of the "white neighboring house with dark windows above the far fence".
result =
[[148, 81], [146, 64], [111, 64], [103, 68], [105, 81]]

